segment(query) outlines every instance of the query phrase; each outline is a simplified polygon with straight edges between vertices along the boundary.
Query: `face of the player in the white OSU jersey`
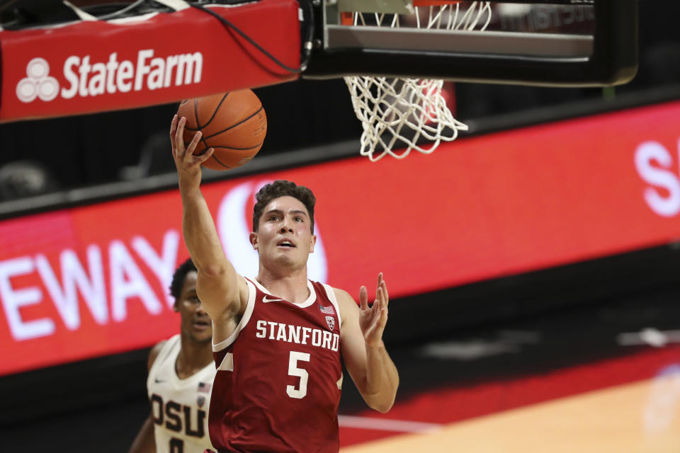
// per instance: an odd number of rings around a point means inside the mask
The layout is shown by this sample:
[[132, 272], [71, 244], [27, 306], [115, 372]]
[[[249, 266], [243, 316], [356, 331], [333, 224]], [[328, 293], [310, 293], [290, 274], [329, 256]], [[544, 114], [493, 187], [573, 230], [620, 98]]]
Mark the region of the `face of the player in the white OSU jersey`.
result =
[[203, 310], [196, 294], [196, 271], [191, 271], [184, 278], [182, 292], [175, 302], [175, 309], [181, 316], [181, 331], [198, 343], [208, 343], [212, 339], [212, 322]]

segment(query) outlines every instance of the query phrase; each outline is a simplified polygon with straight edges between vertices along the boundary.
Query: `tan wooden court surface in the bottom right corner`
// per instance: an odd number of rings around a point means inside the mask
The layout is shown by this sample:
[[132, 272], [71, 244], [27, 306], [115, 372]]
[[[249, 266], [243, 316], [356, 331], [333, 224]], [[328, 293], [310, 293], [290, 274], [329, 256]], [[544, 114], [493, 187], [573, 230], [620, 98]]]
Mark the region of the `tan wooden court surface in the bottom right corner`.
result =
[[341, 449], [387, 452], [678, 453], [680, 374]]

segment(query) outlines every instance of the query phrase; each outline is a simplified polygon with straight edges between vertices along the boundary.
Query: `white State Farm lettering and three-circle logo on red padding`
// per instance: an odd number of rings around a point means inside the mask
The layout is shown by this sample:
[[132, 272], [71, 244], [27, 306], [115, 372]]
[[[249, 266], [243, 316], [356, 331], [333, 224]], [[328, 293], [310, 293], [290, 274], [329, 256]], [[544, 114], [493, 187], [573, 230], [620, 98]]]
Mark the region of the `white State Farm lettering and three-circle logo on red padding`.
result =
[[64, 99], [130, 91], [157, 90], [170, 86], [200, 83], [203, 75], [203, 54], [168, 55], [154, 57], [154, 50], [137, 52], [136, 61], [118, 59], [118, 52], [102, 62], [93, 61], [90, 55], [72, 55], [64, 62], [64, 84], [60, 90], [57, 79], [49, 76], [50, 65], [44, 58], [28, 62], [26, 74], [16, 86], [19, 101], [29, 103], [36, 97], [52, 101], [58, 95]]

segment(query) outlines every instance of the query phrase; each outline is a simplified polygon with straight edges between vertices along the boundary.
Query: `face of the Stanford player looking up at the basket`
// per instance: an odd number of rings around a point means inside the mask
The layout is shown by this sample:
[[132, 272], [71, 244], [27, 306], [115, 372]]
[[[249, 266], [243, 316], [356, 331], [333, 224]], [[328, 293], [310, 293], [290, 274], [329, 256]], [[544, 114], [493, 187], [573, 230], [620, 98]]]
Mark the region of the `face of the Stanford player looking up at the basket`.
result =
[[314, 251], [316, 236], [307, 208], [295, 197], [278, 197], [264, 208], [251, 243], [264, 265], [282, 265], [299, 269], [307, 265]]

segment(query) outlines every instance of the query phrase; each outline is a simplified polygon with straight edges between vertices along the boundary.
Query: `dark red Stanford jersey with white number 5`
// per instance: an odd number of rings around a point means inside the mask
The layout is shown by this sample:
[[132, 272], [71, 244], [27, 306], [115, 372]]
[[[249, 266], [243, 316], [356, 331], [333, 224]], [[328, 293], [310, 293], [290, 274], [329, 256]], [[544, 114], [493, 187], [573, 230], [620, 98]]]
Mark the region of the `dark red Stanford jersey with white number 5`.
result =
[[307, 282], [293, 304], [246, 279], [236, 331], [212, 345], [208, 426], [219, 452], [338, 452], [340, 313], [333, 289]]

